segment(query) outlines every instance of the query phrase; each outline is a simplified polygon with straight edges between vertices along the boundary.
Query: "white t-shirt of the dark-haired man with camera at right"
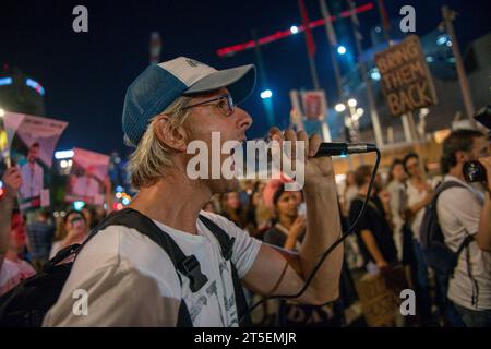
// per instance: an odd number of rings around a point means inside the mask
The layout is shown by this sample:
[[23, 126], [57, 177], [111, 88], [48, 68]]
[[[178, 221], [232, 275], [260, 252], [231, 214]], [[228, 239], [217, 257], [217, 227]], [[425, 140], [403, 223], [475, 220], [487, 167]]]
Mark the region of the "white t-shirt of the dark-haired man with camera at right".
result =
[[[443, 191], [438, 201], [439, 222], [445, 237], [445, 243], [457, 251], [466, 233], [476, 234], [482, 209], [482, 193], [453, 176], [444, 181], [457, 181], [466, 188], [451, 188]], [[469, 244], [470, 268], [478, 290], [472, 284], [467, 269], [467, 249], [458, 258], [454, 278], [450, 279], [448, 299], [470, 310], [491, 309], [491, 253], [479, 249], [476, 241]], [[472, 292], [477, 294], [477, 303], [472, 304]]]

